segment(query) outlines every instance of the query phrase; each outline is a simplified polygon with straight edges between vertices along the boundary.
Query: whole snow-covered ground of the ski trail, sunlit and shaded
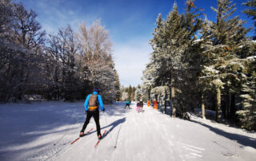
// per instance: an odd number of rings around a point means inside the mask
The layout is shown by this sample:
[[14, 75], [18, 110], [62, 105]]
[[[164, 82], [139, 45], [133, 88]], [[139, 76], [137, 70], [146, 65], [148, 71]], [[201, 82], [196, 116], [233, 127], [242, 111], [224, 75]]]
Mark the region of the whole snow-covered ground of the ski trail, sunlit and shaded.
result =
[[[256, 160], [256, 134], [193, 117], [174, 119], [144, 105], [144, 112], [106, 105], [105, 137], [94, 119], [74, 144], [85, 120], [83, 102], [0, 104], [0, 160]], [[116, 146], [116, 148], [114, 148]]]

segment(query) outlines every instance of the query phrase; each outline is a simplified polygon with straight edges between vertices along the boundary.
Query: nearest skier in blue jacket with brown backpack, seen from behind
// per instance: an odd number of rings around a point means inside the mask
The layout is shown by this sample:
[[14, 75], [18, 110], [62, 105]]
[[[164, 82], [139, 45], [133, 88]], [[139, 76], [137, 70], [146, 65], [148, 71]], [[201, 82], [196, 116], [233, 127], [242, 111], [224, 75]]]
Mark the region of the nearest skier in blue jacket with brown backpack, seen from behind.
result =
[[85, 101], [86, 121], [85, 121], [85, 124], [83, 124], [82, 126], [80, 137], [84, 135], [86, 126], [90, 122], [90, 117], [93, 116], [96, 124], [96, 128], [97, 128], [98, 139], [102, 139], [101, 127], [99, 124], [98, 105], [102, 109], [102, 112], [105, 111], [105, 108], [102, 102], [102, 96], [100, 96], [98, 93], [99, 93], [98, 88], [94, 88], [93, 93], [86, 97], [86, 101]]

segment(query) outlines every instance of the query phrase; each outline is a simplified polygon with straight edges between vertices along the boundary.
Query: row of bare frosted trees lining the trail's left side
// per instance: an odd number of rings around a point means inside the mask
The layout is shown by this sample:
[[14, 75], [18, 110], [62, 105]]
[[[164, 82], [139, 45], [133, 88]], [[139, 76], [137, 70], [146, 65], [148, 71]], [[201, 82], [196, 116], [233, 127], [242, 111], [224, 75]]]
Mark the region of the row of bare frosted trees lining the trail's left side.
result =
[[116, 100], [119, 88], [108, 31], [69, 25], [48, 35], [37, 14], [10, 0], [0, 2], [0, 101], [84, 99], [94, 87], [103, 101]]

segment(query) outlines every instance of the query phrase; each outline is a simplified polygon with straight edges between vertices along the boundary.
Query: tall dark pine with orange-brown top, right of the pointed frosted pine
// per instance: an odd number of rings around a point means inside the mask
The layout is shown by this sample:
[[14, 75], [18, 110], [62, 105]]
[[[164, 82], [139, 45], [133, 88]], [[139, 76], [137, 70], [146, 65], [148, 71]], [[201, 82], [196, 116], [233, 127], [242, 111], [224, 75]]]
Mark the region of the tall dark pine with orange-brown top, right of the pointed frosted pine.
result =
[[194, 0], [186, 2], [186, 13], [182, 14], [182, 30], [180, 35], [182, 55], [179, 62], [180, 68], [176, 72], [175, 87], [177, 90], [177, 112], [179, 116], [188, 118], [186, 112], [194, 111], [199, 102], [198, 84], [201, 69], [201, 41], [198, 40], [198, 30], [202, 28], [202, 20], [199, 18], [198, 10], [194, 9]]

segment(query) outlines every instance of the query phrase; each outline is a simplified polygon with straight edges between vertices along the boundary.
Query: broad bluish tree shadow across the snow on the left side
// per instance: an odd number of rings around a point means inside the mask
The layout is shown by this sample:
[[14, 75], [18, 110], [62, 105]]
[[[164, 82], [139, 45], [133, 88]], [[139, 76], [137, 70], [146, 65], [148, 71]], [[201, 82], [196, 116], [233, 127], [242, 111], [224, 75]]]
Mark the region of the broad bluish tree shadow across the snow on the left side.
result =
[[[47, 147], [51, 143], [38, 145], [38, 143], [33, 142], [45, 135], [59, 133], [59, 138], [61, 138], [66, 132], [75, 129], [79, 133], [85, 120], [83, 104], [84, 102], [41, 102], [0, 107], [0, 159], [15, 159], [15, 157], [21, 156], [19, 154], [26, 151], [38, 150], [38, 153], [44, 151], [43, 147]], [[106, 104], [106, 114], [108, 116], [122, 116], [126, 113], [123, 110], [124, 104], [123, 102]], [[6, 106], [5, 104], [2, 105]], [[103, 128], [111, 127], [109, 129], [111, 132], [125, 120], [126, 118], [116, 120]], [[79, 127], [74, 127], [75, 124], [79, 124]], [[29, 143], [32, 143], [30, 147], [22, 147]]]

